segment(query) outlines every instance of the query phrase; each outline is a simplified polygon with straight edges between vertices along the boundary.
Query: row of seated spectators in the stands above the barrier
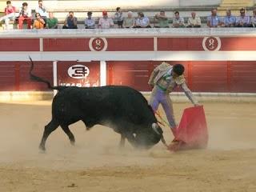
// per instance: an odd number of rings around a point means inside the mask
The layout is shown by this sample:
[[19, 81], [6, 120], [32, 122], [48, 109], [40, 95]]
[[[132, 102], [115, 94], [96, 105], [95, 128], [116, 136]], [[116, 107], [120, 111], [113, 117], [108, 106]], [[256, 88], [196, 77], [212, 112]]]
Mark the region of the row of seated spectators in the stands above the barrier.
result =
[[[35, 7], [35, 16], [32, 17], [32, 10], [26, 2], [22, 3], [20, 9], [12, 6], [10, 1], [6, 2], [6, 8], [4, 10], [5, 15], [0, 18], [0, 22], [4, 21], [6, 29], [9, 29], [10, 21], [18, 22], [18, 29], [23, 28], [23, 22], [26, 22], [28, 29], [57, 29], [58, 28], [58, 18], [54, 17], [54, 13], [47, 11], [46, 7], [43, 5], [42, 0], [38, 1], [38, 6]], [[207, 17], [208, 27], [255, 27], [256, 26], [256, 8], [253, 10], [252, 15], [246, 14], [246, 9], [240, 9], [240, 15], [234, 16], [231, 14], [231, 10], [226, 10], [225, 17], [219, 17], [217, 14], [218, 10], [213, 8], [211, 14]], [[187, 23], [185, 23], [184, 18], [179, 15], [178, 11], [174, 12], [174, 18], [170, 19], [166, 17], [164, 10], [160, 10], [159, 14], [155, 14], [154, 19], [158, 22], [158, 28], [168, 28], [168, 27], [201, 27], [201, 18], [193, 11], [191, 17], [188, 18]], [[114, 28], [114, 22], [117, 23], [118, 28], [150, 28], [150, 19], [146, 17], [142, 12], [138, 12], [136, 18], [134, 18], [134, 13], [128, 11], [127, 17], [123, 16], [122, 9], [117, 7], [116, 13], [110, 16], [106, 11], [102, 11], [102, 18], [97, 20], [93, 17], [91, 11], [87, 12], [87, 17], [84, 20], [86, 29], [110, 29]], [[169, 25], [169, 23], [172, 23]], [[62, 29], [78, 29], [78, 18], [74, 16], [74, 12], [70, 11], [66, 16]]]

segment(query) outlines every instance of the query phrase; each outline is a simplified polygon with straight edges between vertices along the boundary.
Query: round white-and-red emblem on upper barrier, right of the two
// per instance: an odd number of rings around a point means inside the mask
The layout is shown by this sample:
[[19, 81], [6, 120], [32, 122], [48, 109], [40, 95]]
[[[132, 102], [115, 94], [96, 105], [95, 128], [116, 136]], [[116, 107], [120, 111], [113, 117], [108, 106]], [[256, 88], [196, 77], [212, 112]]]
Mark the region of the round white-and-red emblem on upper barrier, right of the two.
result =
[[202, 47], [206, 51], [218, 51], [221, 46], [222, 42], [218, 37], [205, 37], [202, 40]]

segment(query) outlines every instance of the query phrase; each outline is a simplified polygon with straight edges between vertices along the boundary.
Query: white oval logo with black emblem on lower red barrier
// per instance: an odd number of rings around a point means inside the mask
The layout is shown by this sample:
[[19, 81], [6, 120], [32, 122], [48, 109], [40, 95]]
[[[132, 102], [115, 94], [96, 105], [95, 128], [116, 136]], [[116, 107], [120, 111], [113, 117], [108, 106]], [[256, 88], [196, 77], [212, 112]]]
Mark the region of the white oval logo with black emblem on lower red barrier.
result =
[[86, 78], [90, 74], [90, 70], [87, 66], [74, 65], [70, 66], [67, 73], [71, 78]]

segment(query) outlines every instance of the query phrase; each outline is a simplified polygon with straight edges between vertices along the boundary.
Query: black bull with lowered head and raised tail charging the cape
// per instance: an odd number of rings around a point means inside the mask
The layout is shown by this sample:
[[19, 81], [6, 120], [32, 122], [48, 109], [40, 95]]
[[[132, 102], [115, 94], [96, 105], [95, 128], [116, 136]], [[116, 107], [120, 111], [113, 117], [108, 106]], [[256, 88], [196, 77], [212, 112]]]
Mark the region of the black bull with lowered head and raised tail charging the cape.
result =
[[30, 78], [45, 82], [52, 90], [58, 90], [52, 103], [52, 119], [45, 126], [39, 148], [46, 150], [46, 139], [58, 126], [74, 144], [74, 134], [69, 126], [82, 120], [86, 129], [94, 125], [109, 126], [121, 134], [120, 146], [125, 138], [134, 147], [148, 149], [164, 142], [162, 129], [154, 112], [141, 93], [128, 86], [75, 87], [51, 86], [50, 82], [32, 74], [34, 64], [31, 60]]

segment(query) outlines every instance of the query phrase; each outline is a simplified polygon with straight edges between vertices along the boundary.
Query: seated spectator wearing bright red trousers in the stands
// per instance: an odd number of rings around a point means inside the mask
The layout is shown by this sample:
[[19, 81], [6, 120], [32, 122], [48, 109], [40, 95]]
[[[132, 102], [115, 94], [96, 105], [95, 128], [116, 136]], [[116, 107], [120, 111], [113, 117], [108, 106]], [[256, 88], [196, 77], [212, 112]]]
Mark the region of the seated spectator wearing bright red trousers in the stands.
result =
[[28, 5], [26, 2], [22, 3], [22, 8], [19, 11], [19, 16], [18, 16], [18, 29], [23, 29], [23, 22], [26, 21], [27, 23], [27, 29], [31, 29], [31, 9], [28, 8]]

